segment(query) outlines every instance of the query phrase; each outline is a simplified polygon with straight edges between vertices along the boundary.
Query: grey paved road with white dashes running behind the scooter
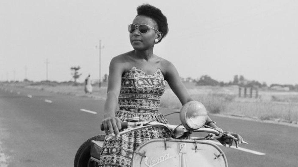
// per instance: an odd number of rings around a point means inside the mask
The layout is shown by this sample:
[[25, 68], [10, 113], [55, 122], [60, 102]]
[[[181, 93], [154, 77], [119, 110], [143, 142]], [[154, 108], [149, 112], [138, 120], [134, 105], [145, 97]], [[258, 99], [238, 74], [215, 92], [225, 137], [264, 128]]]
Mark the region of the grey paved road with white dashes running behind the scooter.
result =
[[[90, 98], [0, 86], [0, 140], [9, 166], [73, 166], [78, 147], [102, 133], [103, 106], [104, 101]], [[242, 134], [249, 145], [241, 147], [266, 154], [221, 147], [229, 166], [298, 166], [298, 128], [211, 117], [223, 129]], [[168, 117], [171, 124], [178, 124], [177, 118]]]

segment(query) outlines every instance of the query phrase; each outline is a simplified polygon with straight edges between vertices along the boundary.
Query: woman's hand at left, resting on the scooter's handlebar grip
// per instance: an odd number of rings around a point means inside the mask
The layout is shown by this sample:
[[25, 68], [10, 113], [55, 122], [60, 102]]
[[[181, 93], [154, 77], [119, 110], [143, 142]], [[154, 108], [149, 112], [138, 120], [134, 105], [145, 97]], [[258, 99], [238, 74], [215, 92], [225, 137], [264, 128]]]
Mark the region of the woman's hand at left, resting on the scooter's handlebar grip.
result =
[[115, 117], [114, 115], [105, 114], [104, 119], [102, 120], [102, 124], [104, 125], [104, 130], [106, 132], [106, 135], [112, 135], [112, 136], [119, 136], [119, 130], [121, 127], [121, 120], [118, 117]]

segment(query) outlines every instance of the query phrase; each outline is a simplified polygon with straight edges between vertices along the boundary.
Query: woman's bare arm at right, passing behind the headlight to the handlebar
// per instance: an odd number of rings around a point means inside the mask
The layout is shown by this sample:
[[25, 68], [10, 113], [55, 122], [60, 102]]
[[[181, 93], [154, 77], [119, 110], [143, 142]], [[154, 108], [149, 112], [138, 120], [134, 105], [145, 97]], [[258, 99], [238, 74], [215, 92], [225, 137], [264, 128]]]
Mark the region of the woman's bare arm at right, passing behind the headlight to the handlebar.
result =
[[[171, 89], [173, 90], [175, 95], [178, 97], [181, 104], [184, 105], [185, 103], [187, 103], [189, 101], [193, 101], [194, 99], [192, 99], [191, 96], [188, 94], [187, 89], [185, 88], [185, 85], [182, 83], [181, 78], [180, 78], [175, 66], [171, 62], [168, 61], [165, 65], [165, 67], [166, 67], [165, 76], [164, 76], [165, 80], [168, 82], [169, 86], [171, 87]], [[208, 115], [207, 115], [207, 120], [206, 120], [205, 124], [223, 132], [223, 130], [220, 129], [219, 127], [217, 127], [216, 123], [214, 121], [212, 121]], [[235, 141], [236, 147], [238, 147], [238, 144], [240, 144], [240, 141], [243, 141], [243, 138], [238, 134], [235, 134], [233, 132], [228, 132], [228, 131], [226, 133], [229, 133], [229, 134], [238, 138], [239, 142]], [[222, 136], [221, 133], [220, 133], [220, 136]], [[226, 140], [226, 139], [222, 139], [222, 138], [220, 138], [218, 140], [223, 145], [229, 144], [229, 146], [231, 146], [232, 142], [233, 142], [233, 140]]]

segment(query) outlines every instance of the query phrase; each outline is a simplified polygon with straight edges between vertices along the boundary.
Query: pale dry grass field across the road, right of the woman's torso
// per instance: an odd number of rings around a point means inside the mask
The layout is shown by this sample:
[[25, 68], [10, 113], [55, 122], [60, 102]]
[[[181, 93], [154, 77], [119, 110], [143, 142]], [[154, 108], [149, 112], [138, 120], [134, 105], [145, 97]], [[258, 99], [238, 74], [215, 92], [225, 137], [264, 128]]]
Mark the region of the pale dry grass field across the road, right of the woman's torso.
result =
[[[210, 113], [237, 114], [263, 120], [298, 120], [298, 95], [295, 92], [261, 92], [260, 98], [238, 98], [237, 87], [197, 87], [188, 89], [194, 100], [203, 103]], [[181, 108], [173, 91], [167, 89], [161, 107]]]

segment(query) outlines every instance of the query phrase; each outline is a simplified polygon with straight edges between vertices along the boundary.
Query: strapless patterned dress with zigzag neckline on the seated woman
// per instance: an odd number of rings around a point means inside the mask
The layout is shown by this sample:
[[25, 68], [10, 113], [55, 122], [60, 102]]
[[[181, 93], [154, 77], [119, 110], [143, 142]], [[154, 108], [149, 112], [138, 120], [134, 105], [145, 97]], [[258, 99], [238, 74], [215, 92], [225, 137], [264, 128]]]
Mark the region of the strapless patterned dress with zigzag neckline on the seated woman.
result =
[[[162, 71], [158, 68], [153, 74], [147, 75], [139, 68], [132, 67], [122, 75], [121, 91], [119, 95], [119, 110], [116, 117], [123, 122], [131, 117], [140, 117], [144, 120], [155, 120], [167, 124], [167, 120], [158, 112], [160, 98], [165, 91], [165, 80]], [[161, 118], [160, 118], [161, 117]], [[99, 166], [130, 167], [133, 151], [145, 141], [167, 137], [162, 131], [145, 128], [120, 138], [112, 138], [104, 142]]]

